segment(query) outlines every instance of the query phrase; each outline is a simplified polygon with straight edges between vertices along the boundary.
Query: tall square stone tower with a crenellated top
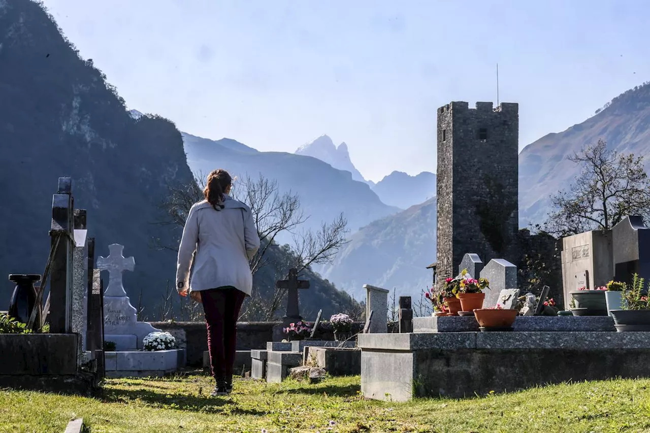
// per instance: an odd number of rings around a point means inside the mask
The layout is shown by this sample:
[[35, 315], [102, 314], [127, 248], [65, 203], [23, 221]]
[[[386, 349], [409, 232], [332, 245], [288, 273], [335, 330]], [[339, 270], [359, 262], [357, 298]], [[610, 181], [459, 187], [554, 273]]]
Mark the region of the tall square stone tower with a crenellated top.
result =
[[[515, 259], [519, 230], [519, 105], [452, 102], [437, 111], [437, 274], [465, 253]], [[478, 276], [474, 276], [478, 277]]]

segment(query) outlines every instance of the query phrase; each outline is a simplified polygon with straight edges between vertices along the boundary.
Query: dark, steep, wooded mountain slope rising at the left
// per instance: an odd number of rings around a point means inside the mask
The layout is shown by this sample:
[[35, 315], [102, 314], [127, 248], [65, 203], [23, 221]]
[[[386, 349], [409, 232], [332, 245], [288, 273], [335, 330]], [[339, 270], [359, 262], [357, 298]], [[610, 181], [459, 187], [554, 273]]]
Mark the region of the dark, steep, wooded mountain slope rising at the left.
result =
[[[124, 273], [125, 288], [134, 305], [142, 291], [145, 313], [155, 319], [167, 282], [174, 287], [176, 254], [153, 248], [153, 239], [174, 245], [180, 234], [156, 224], [166, 219], [161, 203], [168, 184], [193, 180], [181, 133], [158, 116], [128, 112], [105, 75], [79, 57], [38, 3], [0, 0], [0, 29], [0, 185], [6, 186], [0, 274], [43, 272], [52, 194], [58, 177], [70, 176], [75, 207], [88, 210], [96, 256], [107, 256], [111, 243], [125, 246], [124, 255], [136, 263]], [[256, 152], [229, 140], [220, 146]], [[274, 251], [277, 263], [286, 255], [281, 247]], [[255, 285], [268, 290], [284, 272], [267, 268]], [[306, 276], [313, 289], [300, 294], [303, 311], [350, 305], [330, 283]], [[11, 290], [9, 282], [0, 285], [0, 309]]]

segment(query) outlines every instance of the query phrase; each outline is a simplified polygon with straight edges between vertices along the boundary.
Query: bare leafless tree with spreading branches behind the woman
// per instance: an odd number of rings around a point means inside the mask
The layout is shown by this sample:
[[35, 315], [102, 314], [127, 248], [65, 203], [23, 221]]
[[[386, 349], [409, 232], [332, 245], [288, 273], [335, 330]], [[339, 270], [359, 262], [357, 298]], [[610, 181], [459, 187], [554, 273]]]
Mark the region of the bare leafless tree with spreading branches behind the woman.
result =
[[[168, 218], [161, 224], [185, 226], [185, 220], [194, 203], [203, 200], [205, 176], [199, 175], [193, 183], [168, 185], [168, 196], [162, 203]], [[298, 274], [311, 265], [331, 263], [339, 249], [347, 243], [347, 220], [343, 214], [332, 222], [324, 222], [318, 231], [300, 230], [309, 217], [300, 209], [297, 194], [280, 192], [278, 182], [259, 175], [257, 179], [246, 176], [237, 179], [231, 192], [233, 198], [250, 207], [260, 238], [260, 248], [250, 261], [253, 275], [261, 269], [267, 276], [279, 279], [286, 276], [291, 268], [298, 269]], [[282, 234], [291, 235], [293, 246], [287, 248], [278, 244]], [[177, 251], [177, 245], [164, 246], [155, 243], [157, 248]], [[267, 288], [268, 289], [268, 288]], [[246, 300], [240, 314], [241, 319], [268, 321], [273, 319], [287, 295], [286, 289], [272, 288], [263, 293], [260, 288]], [[188, 315], [190, 313], [188, 312]]]

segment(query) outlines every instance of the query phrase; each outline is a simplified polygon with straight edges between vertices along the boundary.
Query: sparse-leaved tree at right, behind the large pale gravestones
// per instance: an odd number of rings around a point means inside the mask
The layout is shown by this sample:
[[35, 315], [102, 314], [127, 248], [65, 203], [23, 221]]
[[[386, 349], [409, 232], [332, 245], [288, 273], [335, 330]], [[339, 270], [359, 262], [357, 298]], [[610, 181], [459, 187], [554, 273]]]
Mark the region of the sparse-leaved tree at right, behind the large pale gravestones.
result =
[[650, 180], [643, 157], [607, 150], [606, 142], [569, 156], [582, 172], [569, 191], [551, 197], [545, 231], [560, 237], [588, 230], [608, 230], [626, 215], [650, 215]]

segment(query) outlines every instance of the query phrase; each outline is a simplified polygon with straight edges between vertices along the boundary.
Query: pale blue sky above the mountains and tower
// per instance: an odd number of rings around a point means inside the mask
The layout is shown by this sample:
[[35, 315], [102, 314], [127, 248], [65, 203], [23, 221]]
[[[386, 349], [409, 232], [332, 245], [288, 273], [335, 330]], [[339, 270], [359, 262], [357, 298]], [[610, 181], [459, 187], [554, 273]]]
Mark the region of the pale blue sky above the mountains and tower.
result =
[[374, 181], [435, 172], [435, 109], [519, 103], [520, 149], [650, 79], [650, 2], [44, 0], [129, 108]]

